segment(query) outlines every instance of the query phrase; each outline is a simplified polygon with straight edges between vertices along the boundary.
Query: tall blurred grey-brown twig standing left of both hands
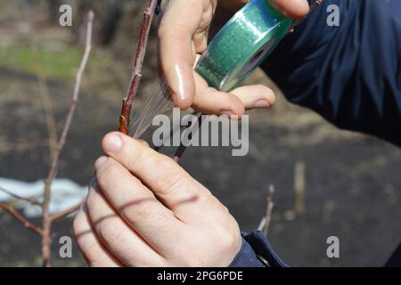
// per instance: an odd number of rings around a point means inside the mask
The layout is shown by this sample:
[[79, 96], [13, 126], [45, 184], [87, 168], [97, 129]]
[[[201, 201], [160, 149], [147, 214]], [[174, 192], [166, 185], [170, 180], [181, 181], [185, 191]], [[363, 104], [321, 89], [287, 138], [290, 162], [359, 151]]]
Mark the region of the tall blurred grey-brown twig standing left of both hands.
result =
[[62, 129], [61, 137], [60, 137], [60, 140], [57, 145], [57, 151], [53, 157], [53, 161], [52, 161], [52, 164], [51, 164], [51, 167], [49, 170], [49, 174], [47, 175], [47, 178], [45, 181], [45, 198], [44, 198], [44, 203], [43, 203], [43, 240], [42, 240], [42, 256], [44, 259], [44, 266], [50, 265], [50, 256], [51, 256], [50, 232], [51, 232], [51, 227], [52, 227], [52, 219], [49, 215], [49, 205], [50, 205], [50, 199], [51, 199], [51, 186], [53, 183], [53, 179], [57, 173], [57, 168], [58, 168], [58, 164], [59, 164], [61, 151], [65, 145], [67, 136], [70, 131], [72, 118], [74, 118], [75, 110], [77, 108], [78, 97], [79, 97], [79, 89], [80, 89], [81, 82], [82, 82], [82, 75], [86, 68], [86, 63], [89, 58], [90, 52], [92, 50], [93, 22], [94, 22], [94, 12], [90, 11], [88, 13], [88, 21], [87, 21], [87, 28], [86, 28], [86, 48], [85, 48], [85, 53], [84, 53], [84, 56], [80, 63], [78, 72], [77, 72], [77, 77], [76, 77], [75, 86], [74, 86], [74, 92], [72, 94], [72, 102], [70, 105], [70, 111], [67, 115], [67, 119], [66, 119], [64, 127]]

